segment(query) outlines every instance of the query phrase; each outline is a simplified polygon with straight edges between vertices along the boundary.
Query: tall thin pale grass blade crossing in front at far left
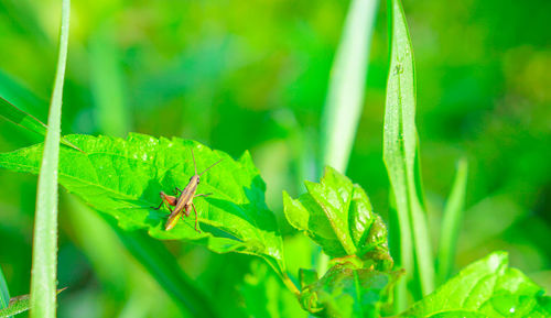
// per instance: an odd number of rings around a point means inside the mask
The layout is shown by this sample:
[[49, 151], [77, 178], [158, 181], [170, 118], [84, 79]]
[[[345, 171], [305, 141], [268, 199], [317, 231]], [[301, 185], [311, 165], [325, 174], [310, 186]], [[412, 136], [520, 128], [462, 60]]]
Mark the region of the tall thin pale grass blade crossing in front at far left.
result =
[[50, 102], [48, 130], [39, 174], [31, 275], [31, 317], [53, 318], [56, 311], [57, 166], [63, 81], [67, 62], [71, 1], [63, 0], [60, 53]]

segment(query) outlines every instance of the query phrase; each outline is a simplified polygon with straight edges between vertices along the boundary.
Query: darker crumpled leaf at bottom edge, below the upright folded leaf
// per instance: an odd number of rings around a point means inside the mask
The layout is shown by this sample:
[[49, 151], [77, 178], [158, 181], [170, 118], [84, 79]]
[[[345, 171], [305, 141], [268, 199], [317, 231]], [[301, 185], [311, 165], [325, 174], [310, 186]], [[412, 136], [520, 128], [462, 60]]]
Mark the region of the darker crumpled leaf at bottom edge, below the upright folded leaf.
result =
[[380, 317], [400, 272], [366, 268], [359, 259], [350, 262], [355, 257], [341, 259], [321, 279], [302, 289], [305, 310], [318, 317]]

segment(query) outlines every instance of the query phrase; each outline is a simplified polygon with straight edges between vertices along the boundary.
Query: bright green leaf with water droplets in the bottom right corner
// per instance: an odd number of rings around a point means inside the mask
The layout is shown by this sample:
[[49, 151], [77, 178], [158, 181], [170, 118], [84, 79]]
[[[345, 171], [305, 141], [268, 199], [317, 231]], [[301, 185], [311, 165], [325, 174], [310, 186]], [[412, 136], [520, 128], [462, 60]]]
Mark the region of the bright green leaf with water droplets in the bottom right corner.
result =
[[551, 297], [495, 252], [463, 271], [399, 317], [550, 317]]

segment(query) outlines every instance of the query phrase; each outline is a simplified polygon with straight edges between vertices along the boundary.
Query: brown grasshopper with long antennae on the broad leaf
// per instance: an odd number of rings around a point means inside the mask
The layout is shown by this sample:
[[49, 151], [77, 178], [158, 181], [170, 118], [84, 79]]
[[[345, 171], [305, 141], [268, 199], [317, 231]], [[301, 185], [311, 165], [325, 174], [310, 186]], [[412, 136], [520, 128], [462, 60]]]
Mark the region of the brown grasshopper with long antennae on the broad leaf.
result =
[[[197, 210], [195, 209], [195, 205], [193, 204], [193, 198], [206, 197], [206, 196], [212, 195], [212, 194], [196, 195], [195, 193], [197, 191], [197, 186], [201, 183], [201, 176], [224, 160], [224, 158], [222, 158], [222, 160], [215, 162], [209, 167], [204, 169], [201, 174], [197, 174], [197, 165], [195, 164], [195, 156], [193, 155], [193, 149], [191, 149], [191, 151], [192, 151], [192, 157], [193, 157], [193, 167], [195, 168], [195, 175], [190, 178], [190, 183], [187, 184], [187, 186], [185, 186], [184, 190], [181, 190], [179, 187], [176, 187], [175, 194], [177, 195], [177, 193], [180, 193], [180, 195], [177, 197], [176, 196], [169, 196], [165, 193], [161, 191], [159, 194], [161, 196], [161, 199], [162, 199], [161, 204], [156, 208], [151, 207], [155, 210], [159, 210], [163, 204], [166, 204], [166, 207], [171, 211], [169, 219], [166, 220], [166, 223], [164, 224], [164, 230], [166, 230], [166, 231], [174, 228], [174, 226], [177, 223], [180, 218], [182, 218], [182, 220], [183, 220], [184, 215], [186, 217], [188, 217], [190, 216], [190, 208], [193, 208], [193, 210], [195, 211], [195, 231], [201, 233], [201, 230], [197, 229], [197, 222], [198, 222]], [[171, 206], [175, 207], [174, 210], [171, 209]]]

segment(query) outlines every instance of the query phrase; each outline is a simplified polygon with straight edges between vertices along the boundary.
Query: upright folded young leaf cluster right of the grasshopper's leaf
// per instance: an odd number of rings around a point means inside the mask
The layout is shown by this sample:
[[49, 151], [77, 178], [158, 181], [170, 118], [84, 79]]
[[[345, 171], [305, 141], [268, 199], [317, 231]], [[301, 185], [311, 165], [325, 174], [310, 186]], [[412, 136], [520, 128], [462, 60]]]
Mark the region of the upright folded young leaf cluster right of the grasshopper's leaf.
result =
[[283, 193], [285, 217], [294, 228], [332, 257], [358, 255], [391, 266], [387, 228], [359, 185], [326, 167], [320, 183], [306, 182], [306, 189], [299, 199]]

